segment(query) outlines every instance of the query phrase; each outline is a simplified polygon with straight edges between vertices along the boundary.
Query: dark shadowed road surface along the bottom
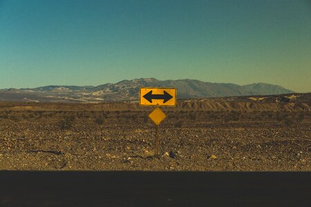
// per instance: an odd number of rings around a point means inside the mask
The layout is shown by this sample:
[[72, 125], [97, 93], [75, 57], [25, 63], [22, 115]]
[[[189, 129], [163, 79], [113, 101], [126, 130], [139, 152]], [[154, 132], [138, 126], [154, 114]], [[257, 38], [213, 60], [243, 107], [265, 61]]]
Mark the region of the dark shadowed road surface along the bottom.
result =
[[310, 172], [0, 172], [0, 206], [311, 206]]

